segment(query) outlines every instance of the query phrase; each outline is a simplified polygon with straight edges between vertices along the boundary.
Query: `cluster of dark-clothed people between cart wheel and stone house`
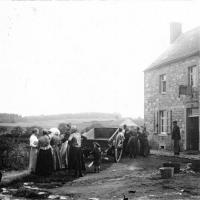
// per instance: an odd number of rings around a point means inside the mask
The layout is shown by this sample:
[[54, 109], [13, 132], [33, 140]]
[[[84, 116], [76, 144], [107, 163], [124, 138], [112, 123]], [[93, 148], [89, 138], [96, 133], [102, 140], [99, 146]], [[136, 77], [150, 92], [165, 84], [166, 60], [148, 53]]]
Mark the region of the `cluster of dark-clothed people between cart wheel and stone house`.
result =
[[146, 128], [128, 128], [126, 125], [123, 127], [124, 142], [123, 152], [125, 156], [130, 158], [136, 158], [137, 155], [146, 157], [149, 154], [149, 142], [147, 138]]

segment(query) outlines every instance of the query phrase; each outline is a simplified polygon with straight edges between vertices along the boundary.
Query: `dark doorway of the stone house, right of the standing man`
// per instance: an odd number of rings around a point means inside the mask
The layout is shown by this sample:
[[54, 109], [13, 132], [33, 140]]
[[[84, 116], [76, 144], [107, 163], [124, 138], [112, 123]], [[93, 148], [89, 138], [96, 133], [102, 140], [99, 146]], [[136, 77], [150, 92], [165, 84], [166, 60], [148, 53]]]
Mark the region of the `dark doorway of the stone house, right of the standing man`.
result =
[[187, 150], [199, 150], [199, 117], [187, 118]]

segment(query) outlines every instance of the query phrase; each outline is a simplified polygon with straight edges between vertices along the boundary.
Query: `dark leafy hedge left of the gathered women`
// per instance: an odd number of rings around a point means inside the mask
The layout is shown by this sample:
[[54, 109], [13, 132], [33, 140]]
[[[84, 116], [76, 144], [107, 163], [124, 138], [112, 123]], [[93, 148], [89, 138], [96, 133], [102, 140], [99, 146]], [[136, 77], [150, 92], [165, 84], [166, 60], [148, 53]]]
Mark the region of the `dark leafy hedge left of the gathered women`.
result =
[[[0, 169], [27, 169], [29, 137], [34, 127], [0, 127]], [[41, 128], [39, 127], [41, 130]]]

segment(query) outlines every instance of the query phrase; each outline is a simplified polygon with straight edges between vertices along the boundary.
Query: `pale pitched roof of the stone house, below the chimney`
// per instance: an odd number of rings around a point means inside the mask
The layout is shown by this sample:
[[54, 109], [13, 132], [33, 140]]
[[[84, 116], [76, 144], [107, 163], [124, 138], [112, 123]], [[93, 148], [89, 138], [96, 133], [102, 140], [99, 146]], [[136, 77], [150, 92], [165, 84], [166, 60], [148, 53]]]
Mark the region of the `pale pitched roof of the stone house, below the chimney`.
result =
[[182, 33], [145, 71], [199, 55], [200, 27]]

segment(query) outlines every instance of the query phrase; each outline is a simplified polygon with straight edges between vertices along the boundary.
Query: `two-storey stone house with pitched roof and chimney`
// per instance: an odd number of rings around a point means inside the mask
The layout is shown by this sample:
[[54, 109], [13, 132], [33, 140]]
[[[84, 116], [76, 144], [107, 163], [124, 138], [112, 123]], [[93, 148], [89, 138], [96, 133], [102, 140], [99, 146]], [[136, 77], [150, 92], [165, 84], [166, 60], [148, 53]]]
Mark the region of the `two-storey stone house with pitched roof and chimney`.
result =
[[181, 149], [200, 150], [200, 27], [182, 33], [170, 24], [170, 45], [144, 71], [144, 122], [152, 148], [172, 149], [172, 122], [181, 129]]

